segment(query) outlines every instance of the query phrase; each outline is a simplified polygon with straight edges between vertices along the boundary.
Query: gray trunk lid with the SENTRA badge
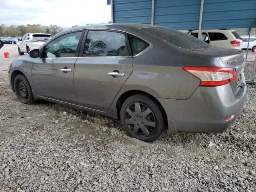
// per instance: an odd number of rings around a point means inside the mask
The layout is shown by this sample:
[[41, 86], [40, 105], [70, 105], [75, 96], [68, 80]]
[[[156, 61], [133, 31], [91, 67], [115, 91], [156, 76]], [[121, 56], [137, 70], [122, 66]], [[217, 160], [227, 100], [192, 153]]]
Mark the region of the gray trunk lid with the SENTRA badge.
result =
[[244, 85], [244, 51], [216, 47], [206, 50], [191, 50], [191, 52], [218, 57], [225, 67], [234, 68], [236, 70], [236, 80], [230, 83], [234, 92], [237, 92]]

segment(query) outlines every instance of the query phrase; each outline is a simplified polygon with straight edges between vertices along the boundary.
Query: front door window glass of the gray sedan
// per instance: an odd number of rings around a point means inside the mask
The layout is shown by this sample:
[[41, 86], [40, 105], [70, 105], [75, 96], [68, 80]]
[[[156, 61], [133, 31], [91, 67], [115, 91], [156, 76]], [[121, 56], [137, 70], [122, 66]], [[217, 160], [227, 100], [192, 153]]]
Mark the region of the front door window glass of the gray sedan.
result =
[[82, 32], [69, 33], [50, 42], [44, 48], [44, 58], [74, 57]]

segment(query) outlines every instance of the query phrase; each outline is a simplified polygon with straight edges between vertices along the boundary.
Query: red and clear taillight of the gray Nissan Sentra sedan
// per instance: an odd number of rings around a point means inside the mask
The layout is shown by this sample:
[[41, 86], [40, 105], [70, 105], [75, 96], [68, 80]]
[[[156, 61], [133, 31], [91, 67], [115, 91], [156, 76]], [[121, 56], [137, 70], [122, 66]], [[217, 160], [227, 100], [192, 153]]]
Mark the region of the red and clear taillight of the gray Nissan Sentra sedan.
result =
[[183, 66], [182, 69], [199, 78], [200, 86], [220, 86], [236, 79], [234, 68]]

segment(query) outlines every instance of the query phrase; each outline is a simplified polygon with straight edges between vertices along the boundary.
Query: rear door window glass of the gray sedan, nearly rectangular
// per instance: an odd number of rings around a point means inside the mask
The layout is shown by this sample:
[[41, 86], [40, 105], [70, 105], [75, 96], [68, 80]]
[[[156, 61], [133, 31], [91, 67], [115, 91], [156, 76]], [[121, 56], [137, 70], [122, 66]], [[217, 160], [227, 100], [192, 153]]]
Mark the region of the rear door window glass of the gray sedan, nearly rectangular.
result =
[[126, 56], [127, 51], [124, 34], [110, 31], [89, 31], [83, 56]]

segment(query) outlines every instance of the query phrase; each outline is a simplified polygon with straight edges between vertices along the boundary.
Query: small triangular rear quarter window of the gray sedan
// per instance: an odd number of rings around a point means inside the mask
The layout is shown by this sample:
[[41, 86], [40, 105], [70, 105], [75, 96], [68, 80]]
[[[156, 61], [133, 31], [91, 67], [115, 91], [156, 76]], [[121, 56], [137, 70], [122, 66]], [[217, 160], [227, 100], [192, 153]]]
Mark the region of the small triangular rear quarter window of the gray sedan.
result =
[[137, 55], [138, 53], [148, 48], [148, 46], [150, 46], [150, 44], [148, 44], [144, 40], [130, 34], [128, 34], [128, 39], [131, 46], [132, 55]]

